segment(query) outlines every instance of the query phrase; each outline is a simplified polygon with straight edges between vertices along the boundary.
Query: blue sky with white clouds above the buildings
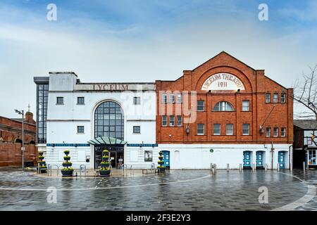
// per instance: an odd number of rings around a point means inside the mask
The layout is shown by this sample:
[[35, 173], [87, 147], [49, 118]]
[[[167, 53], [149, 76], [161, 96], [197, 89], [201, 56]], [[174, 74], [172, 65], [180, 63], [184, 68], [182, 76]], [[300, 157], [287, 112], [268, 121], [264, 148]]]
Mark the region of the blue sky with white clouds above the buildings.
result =
[[[49, 4], [57, 20], [46, 18]], [[259, 20], [267, 4], [268, 20]], [[317, 63], [317, 1], [1, 0], [0, 115], [35, 113], [33, 77], [81, 82], [178, 79], [227, 51], [291, 88]], [[298, 105], [294, 105], [295, 112]]]

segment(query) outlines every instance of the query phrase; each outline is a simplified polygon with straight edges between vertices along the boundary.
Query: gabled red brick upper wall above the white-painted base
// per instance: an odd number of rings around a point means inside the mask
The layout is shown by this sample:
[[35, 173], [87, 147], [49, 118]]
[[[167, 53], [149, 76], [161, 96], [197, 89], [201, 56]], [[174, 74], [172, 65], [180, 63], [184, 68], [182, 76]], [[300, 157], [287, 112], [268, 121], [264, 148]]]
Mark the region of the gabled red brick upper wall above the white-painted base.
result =
[[[240, 91], [203, 91], [206, 79], [217, 73], [234, 75], [244, 84]], [[197, 112], [197, 120], [189, 123], [189, 134], [186, 133], [187, 124], [162, 126], [162, 115], [167, 108], [172, 107], [172, 115], [177, 115], [176, 108], [182, 103], [162, 103], [162, 91], [197, 91], [197, 101], [204, 101], [204, 112]], [[183, 76], [175, 81], [156, 81], [157, 115], [156, 142], [157, 143], [292, 143], [293, 141], [293, 101], [292, 89], [286, 89], [264, 75], [264, 70], [254, 70], [240, 60], [221, 52], [217, 56], [203, 63], [194, 70], [185, 70]], [[266, 94], [271, 94], [271, 103], [266, 103]], [[273, 94], [278, 94], [278, 103], [273, 103]], [[285, 103], [281, 102], [281, 94], [285, 94]], [[169, 95], [169, 94], [168, 94]], [[193, 98], [194, 99], [194, 98]], [[169, 100], [169, 98], [168, 98]], [[249, 111], [242, 111], [242, 101], [249, 101]], [[214, 112], [213, 107], [220, 101], [227, 101], [233, 106], [232, 112]], [[194, 104], [195, 105], [195, 104]], [[273, 106], [275, 108], [272, 110]], [[197, 108], [194, 108], [197, 111]], [[272, 112], [271, 112], [272, 110]], [[269, 115], [271, 112], [271, 115]], [[181, 113], [182, 121], [185, 119]], [[269, 115], [269, 116], [268, 116]], [[267, 120], [266, 120], [267, 118]], [[263, 124], [263, 122], [265, 122]], [[197, 135], [197, 124], [204, 124], [204, 135]], [[221, 124], [221, 134], [213, 135], [213, 124]], [[226, 124], [233, 124], [233, 135], [226, 135]], [[242, 135], [242, 124], [249, 124], [249, 135]], [[260, 126], [263, 124], [264, 133]], [[266, 137], [266, 127], [271, 127], [271, 136]], [[278, 128], [278, 136], [273, 137], [274, 127]], [[281, 129], [286, 134], [282, 136]]]

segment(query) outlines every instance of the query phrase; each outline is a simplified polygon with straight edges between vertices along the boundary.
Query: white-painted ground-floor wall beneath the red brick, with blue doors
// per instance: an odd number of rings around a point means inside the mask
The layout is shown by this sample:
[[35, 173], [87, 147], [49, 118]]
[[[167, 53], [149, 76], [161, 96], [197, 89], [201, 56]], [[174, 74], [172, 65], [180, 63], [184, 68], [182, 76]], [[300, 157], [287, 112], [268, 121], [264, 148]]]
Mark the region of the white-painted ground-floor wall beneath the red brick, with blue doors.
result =
[[[267, 148], [266, 148], [267, 147]], [[213, 153], [210, 153], [210, 149]], [[284, 150], [285, 168], [289, 167], [289, 145], [275, 144], [273, 168], [278, 165], [278, 151]], [[243, 165], [244, 150], [251, 151], [251, 165], [256, 164], [256, 151], [264, 151], [263, 164], [271, 169], [271, 146], [256, 144], [159, 144], [159, 150], [170, 151], [170, 169], [209, 169], [211, 163], [216, 163], [218, 169], [226, 169], [229, 163], [231, 169], [239, 169]]]

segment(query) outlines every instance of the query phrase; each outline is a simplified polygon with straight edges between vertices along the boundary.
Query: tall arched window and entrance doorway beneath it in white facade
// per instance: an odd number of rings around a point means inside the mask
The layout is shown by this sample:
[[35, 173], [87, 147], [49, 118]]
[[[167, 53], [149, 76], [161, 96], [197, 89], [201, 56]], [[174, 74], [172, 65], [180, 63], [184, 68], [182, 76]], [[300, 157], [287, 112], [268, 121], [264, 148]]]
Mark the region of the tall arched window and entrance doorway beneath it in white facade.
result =
[[102, 150], [110, 152], [111, 166], [123, 164], [124, 145], [118, 141], [111, 142], [110, 138], [123, 141], [124, 113], [115, 101], [104, 101], [94, 112], [94, 138], [101, 138], [101, 143], [94, 145], [94, 168], [100, 167]]

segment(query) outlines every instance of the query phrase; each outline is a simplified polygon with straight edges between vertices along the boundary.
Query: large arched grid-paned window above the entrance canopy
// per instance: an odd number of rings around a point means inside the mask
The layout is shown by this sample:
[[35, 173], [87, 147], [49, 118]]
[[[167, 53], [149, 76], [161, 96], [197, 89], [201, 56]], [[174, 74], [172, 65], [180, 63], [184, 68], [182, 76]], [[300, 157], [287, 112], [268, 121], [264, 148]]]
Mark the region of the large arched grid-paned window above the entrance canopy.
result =
[[108, 136], [124, 139], [124, 114], [121, 106], [114, 101], [101, 103], [94, 112], [94, 138]]

